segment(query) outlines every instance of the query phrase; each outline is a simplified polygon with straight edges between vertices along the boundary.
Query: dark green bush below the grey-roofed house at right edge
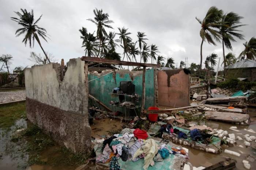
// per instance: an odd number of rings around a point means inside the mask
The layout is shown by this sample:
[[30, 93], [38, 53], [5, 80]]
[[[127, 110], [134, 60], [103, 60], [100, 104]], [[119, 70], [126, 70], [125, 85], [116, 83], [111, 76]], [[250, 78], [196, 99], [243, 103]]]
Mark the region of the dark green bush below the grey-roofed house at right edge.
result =
[[256, 86], [256, 82], [244, 82], [244, 81], [239, 81], [236, 78], [232, 78], [230, 80], [226, 80], [217, 84], [217, 87], [219, 88], [226, 88], [230, 90], [242, 90], [242, 91], [252, 89], [253, 86]]

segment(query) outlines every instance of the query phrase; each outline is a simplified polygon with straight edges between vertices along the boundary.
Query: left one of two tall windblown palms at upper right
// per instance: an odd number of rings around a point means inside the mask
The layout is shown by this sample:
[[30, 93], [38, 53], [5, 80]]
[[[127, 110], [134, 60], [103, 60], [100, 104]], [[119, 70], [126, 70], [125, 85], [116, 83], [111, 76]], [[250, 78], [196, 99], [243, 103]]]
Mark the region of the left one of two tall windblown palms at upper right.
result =
[[219, 28], [221, 26], [222, 15], [223, 15], [222, 10], [219, 10], [216, 7], [210, 7], [203, 21], [201, 21], [196, 17], [196, 20], [201, 24], [201, 27], [202, 27], [200, 30], [200, 36], [202, 38], [201, 47], [200, 47], [200, 55], [201, 55], [200, 68], [201, 69], [202, 69], [202, 61], [203, 61], [203, 54], [202, 54], [203, 42], [207, 40], [209, 44], [213, 44], [215, 46], [216, 44], [213, 38], [216, 41], [220, 42], [219, 38], [221, 38], [221, 36], [219, 35], [219, 32], [217, 30], [214, 30], [213, 28]]

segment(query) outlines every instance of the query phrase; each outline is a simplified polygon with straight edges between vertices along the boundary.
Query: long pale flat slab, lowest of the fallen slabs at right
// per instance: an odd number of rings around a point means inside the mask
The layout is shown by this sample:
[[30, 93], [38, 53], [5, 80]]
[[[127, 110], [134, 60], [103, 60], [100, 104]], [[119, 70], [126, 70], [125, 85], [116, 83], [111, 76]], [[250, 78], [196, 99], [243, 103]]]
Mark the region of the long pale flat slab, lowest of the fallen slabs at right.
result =
[[249, 115], [231, 112], [206, 111], [204, 114], [210, 120], [240, 123], [249, 119]]

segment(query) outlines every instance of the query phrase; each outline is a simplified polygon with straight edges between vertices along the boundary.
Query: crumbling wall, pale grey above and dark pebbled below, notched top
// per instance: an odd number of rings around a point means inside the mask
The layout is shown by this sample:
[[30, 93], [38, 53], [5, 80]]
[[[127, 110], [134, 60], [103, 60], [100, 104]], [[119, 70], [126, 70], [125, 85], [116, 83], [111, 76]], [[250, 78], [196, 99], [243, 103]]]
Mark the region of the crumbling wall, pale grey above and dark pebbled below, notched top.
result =
[[60, 64], [25, 70], [27, 118], [74, 152], [89, 151], [88, 90], [84, 62], [70, 59], [63, 81]]

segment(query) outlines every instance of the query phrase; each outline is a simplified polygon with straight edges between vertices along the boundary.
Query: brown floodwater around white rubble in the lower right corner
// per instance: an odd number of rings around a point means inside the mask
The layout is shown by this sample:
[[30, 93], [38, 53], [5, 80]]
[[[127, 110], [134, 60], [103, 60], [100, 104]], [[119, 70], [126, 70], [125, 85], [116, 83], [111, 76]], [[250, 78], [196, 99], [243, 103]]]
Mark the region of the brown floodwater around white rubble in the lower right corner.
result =
[[[206, 123], [200, 123], [200, 125], [203, 125], [203, 124], [205, 124], [211, 128], [227, 130], [229, 133], [234, 133], [236, 136], [240, 136], [241, 138], [243, 138], [243, 136], [245, 134], [256, 136], [256, 133], [251, 133], [251, 132], [247, 132], [244, 130], [246, 128], [246, 129], [253, 129], [254, 131], [256, 131], [256, 117], [251, 117], [250, 125], [234, 125], [234, 124], [227, 124], [227, 123], [222, 123], [222, 122], [217, 122], [217, 121], [207, 121]], [[236, 126], [237, 130], [239, 130], [239, 132], [230, 130], [229, 128], [231, 126]], [[252, 155], [256, 156], [256, 149], [252, 149], [251, 147], [246, 148], [245, 145], [243, 144], [243, 140], [236, 140], [236, 142], [237, 142], [236, 146], [228, 147], [227, 149], [240, 153], [241, 154], [240, 157], [226, 154], [224, 152], [222, 152], [221, 154], [212, 154], [212, 153], [208, 153], [208, 152], [204, 152], [204, 151], [200, 151], [200, 150], [196, 150], [196, 149], [188, 147], [189, 162], [191, 162], [192, 165], [196, 166], [196, 167], [198, 167], [198, 166], [207, 167], [212, 164], [223, 161], [225, 159], [224, 157], [231, 157], [237, 161], [236, 162], [237, 170], [245, 169], [244, 165], [242, 163], [242, 160], [244, 160], [248, 154], [252, 154]], [[244, 148], [238, 147], [238, 145], [240, 145], [240, 144], [242, 146], [244, 146]], [[225, 148], [223, 148], [223, 149], [225, 149]], [[256, 161], [250, 162], [250, 164], [251, 164], [251, 169], [256, 169]]]

